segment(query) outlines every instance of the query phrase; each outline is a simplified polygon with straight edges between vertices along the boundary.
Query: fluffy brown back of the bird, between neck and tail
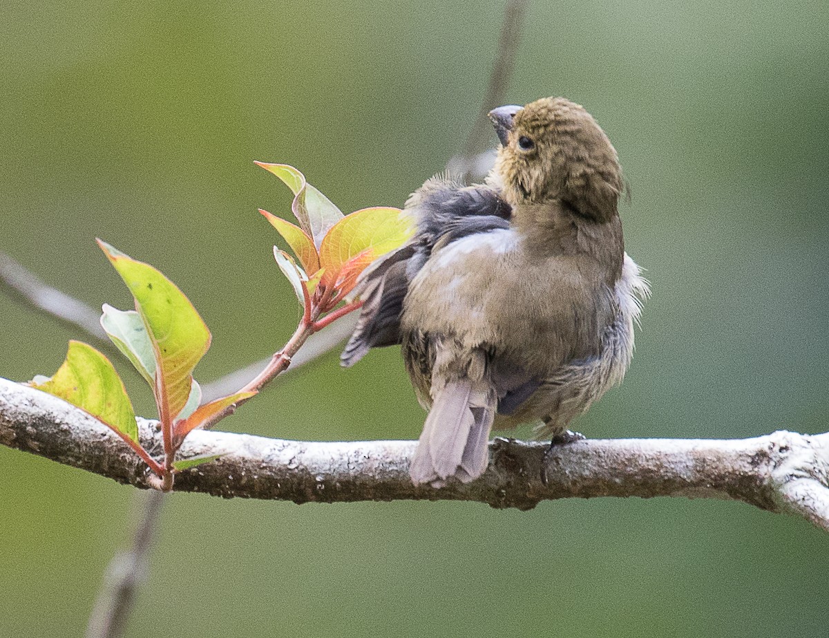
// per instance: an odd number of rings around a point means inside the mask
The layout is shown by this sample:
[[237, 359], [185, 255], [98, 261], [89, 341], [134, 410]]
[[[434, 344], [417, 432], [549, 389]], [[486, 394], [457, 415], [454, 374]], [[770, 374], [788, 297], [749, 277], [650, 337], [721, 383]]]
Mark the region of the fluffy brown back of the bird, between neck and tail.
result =
[[401, 328], [543, 374], [598, 353], [610, 297], [578, 257], [531, 259], [517, 231], [490, 231], [434, 252], [411, 283]]

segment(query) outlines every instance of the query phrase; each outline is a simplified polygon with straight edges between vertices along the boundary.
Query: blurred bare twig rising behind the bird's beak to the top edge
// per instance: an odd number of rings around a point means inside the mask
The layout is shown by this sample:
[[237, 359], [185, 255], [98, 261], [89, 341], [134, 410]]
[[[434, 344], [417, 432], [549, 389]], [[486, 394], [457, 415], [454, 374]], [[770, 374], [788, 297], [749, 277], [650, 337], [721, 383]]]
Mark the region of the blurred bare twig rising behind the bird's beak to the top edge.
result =
[[498, 37], [495, 62], [489, 75], [487, 92], [478, 110], [478, 117], [469, 131], [462, 152], [451, 158], [446, 166], [449, 173], [464, 180], [480, 179], [492, 168], [495, 153], [492, 151], [491, 143], [492, 125], [487, 114], [495, 107], [501, 106], [507, 95], [528, 3], [528, 0], [508, 0], [504, 9], [501, 36]]

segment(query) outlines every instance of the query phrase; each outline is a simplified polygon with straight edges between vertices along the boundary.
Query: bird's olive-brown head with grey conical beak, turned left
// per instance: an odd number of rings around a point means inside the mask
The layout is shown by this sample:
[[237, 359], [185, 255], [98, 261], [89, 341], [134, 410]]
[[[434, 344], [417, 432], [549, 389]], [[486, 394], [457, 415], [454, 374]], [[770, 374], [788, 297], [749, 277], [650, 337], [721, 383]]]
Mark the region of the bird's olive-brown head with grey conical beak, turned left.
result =
[[559, 200], [597, 222], [617, 214], [624, 183], [616, 149], [582, 106], [550, 97], [489, 118], [502, 144], [493, 173], [507, 202]]

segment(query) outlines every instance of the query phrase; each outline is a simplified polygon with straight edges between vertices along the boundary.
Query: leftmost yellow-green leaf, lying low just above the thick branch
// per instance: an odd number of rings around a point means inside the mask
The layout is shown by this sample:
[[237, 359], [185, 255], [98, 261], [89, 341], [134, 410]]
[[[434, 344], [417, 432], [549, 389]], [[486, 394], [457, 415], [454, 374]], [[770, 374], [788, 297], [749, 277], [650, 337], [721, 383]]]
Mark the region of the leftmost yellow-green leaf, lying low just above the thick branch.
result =
[[70, 341], [61, 368], [48, 381], [32, 387], [80, 407], [125, 439], [138, 443], [135, 412], [124, 382], [109, 359], [92, 346]]

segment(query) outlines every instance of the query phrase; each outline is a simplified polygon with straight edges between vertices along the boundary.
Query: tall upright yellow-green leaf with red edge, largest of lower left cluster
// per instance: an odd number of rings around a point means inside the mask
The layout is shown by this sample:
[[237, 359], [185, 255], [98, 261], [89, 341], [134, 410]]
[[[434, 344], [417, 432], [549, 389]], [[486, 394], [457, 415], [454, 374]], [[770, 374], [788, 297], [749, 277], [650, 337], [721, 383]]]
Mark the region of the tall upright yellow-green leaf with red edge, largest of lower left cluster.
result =
[[210, 348], [210, 331], [190, 300], [161, 272], [104, 241], [98, 244], [133, 293], [160, 372], [154, 387], [159, 416], [172, 422], [190, 397], [193, 368]]

